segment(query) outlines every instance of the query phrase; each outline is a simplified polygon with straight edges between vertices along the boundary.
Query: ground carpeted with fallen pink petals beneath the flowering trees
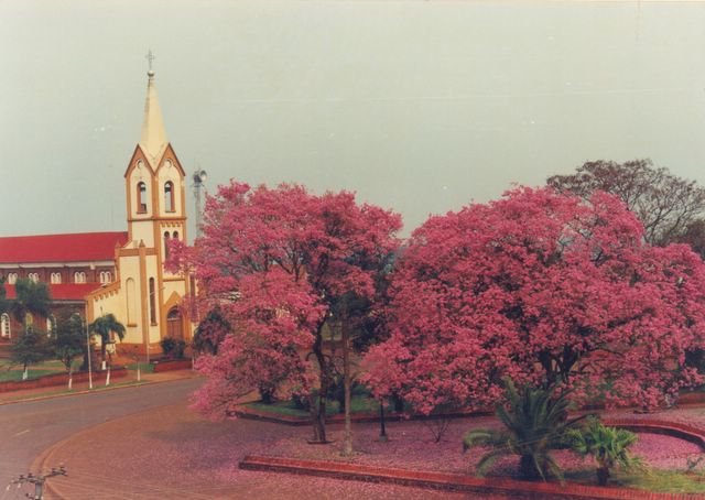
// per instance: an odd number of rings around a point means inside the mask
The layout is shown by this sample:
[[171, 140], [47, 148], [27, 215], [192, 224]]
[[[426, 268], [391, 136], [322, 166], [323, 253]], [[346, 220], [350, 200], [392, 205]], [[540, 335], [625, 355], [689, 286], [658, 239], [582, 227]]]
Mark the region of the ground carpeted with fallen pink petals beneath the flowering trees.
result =
[[[476, 477], [477, 463], [487, 450], [478, 448], [463, 454], [462, 436], [470, 428], [496, 426], [497, 420], [487, 416], [454, 420], [440, 443], [433, 442], [433, 435], [427, 428], [430, 425], [434, 425], [434, 422], [388, 423], [389, 442], [382, 443], [379, 442], [378, 424], [356, 424], [352, 431], [356, 453], [351, 458], [346, 459], [341, 458], [339, 453], [344, 438], [341, 426], [329, 427], [328, 437], [334, 442], [329, 446], [306, 444], [310, 432], [307, 428], [301, 428], [293, 431], [291, 437], [280, 439], [268, 447], [267, 455], [294, 460], [327, 460], [334, 465], [346, 463]], [[705, 454], [697, 444], [663, 434], [640, 433], [632, 454], [641, 456], [655, 472], [668, 470], [682, 472], [687, 469], [688, 459], [697, 460], [703, 457], [705, 461]], [[577, 479], [584, 485], [595, 483], [594, 465], [589, 458], [582, 458], [568, 450], [555, 450], [554, 457], [568, 479]], [[703, 461], [695, 471], [703, 474], [705, 466]], [[518, 479], [518, 458], [511, 456], [497, 461], [489, 470], [488, 479]]]

